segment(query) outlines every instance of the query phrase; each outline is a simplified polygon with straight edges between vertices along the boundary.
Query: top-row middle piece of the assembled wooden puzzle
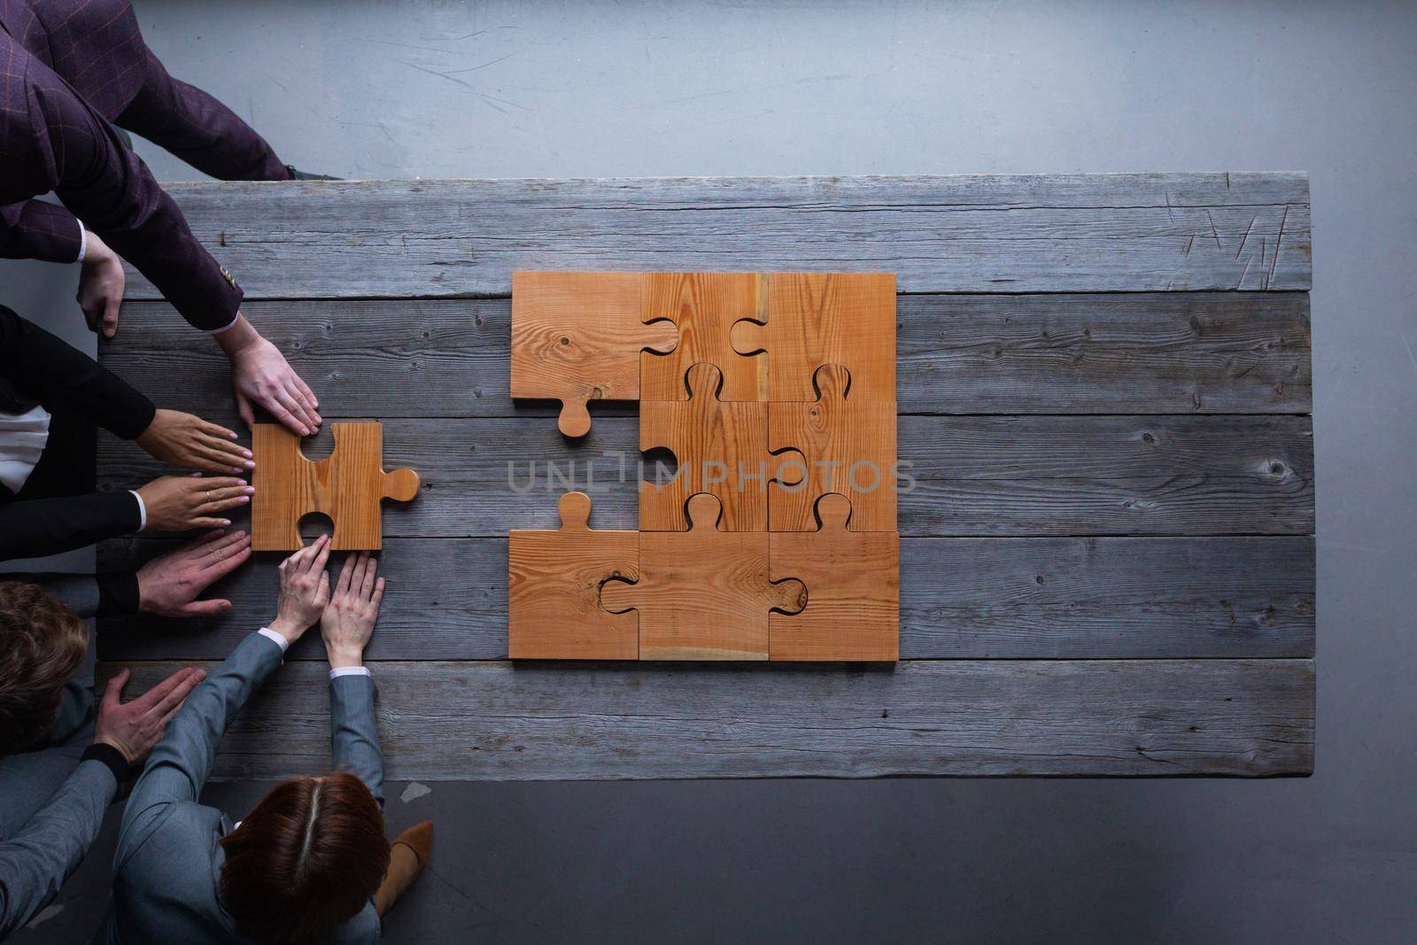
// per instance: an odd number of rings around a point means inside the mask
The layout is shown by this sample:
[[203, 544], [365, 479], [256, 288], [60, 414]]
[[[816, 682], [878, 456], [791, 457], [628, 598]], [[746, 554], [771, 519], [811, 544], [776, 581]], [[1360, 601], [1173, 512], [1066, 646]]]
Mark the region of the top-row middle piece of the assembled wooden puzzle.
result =
[[721, 400], [768, 400], [768, 358], [738, 354], [728, 340], [740, 319], [764, 320], [767, 288], [767, 276], [755, 272], [646, 272], [640, 317], [672, 319], [679, 346], [663, 357], [640, 357], [639, 398], [687, 400], [684, 374], [707, 363], [723, 374]]

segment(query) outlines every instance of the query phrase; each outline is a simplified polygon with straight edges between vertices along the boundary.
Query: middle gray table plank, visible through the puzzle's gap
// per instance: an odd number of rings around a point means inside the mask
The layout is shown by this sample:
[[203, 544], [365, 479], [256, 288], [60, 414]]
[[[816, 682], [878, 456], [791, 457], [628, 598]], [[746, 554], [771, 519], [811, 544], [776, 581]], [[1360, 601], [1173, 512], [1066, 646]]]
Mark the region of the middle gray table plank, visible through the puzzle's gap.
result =
[[[915, 479], [900, 496], [905, 536], [1314, 531], [1308, 417], [901, 417], [898, 431]], [[306, 455], [329, 455], [330, 443], [322, 432]], [[384, 503], [385, 536], [553, 528], [570, 489], [592, 493], [598, 527], [636, 523], [632, 417], [601, 418], [584, 442], [550, 418], [385, 421], [384, 458], [424, 483], [412, 503]], [[99, 469], [102, 489], [169, 472], [109, 435]]]

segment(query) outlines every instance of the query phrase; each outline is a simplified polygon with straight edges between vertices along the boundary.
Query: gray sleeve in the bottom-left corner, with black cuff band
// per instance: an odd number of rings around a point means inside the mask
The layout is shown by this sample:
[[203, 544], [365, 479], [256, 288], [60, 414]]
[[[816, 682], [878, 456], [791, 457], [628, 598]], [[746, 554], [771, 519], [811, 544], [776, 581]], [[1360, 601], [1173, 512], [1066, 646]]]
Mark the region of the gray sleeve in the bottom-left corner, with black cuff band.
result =
[[0, 843], [0, 939], [48, 905], [84, 861], [118, 792], [113, 772], [85, 761], [20, 833]]

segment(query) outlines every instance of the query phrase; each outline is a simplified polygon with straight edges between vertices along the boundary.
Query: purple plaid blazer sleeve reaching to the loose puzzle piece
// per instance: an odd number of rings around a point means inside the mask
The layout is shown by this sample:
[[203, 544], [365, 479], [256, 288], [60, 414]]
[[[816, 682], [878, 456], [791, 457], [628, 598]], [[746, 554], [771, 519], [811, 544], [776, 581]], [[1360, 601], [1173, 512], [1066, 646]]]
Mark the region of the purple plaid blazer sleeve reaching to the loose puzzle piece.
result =
[[[64, 79], [3, 31], [0, 169], [0, 252], [41, 255], [40, 249], [51, 254], [41, 258], [65, 258], [50, 232], [65, 221], [34, 210], [31, 201], [54, 191], [193, 326], [217, 330], [235, 319], [241, 289], [197, 242], [142, 159]], [[67, 259], [77, 255], [74, 242]]]

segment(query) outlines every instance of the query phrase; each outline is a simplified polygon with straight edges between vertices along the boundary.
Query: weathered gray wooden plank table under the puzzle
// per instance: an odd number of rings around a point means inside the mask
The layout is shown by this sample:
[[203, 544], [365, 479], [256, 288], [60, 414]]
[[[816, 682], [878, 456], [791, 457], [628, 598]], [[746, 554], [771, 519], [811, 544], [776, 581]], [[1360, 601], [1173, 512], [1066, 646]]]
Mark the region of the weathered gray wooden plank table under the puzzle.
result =
[[[378, 418], [424, 493], [385, 506], [368, 656], [390, 778], [1292, 775], [1314, 766], [1309, 188], [1302, 174], [466, 180], [171, 187], [327, 418]], [[597, 460], [633, 527], [633, 405], [584, 443], [509, 398], [513, 269], [893, 271], [901, 663], [512, 664], [506, 533], [554, 527], [527, 463]], [[103, 361], [238, 426], [220, 351], [130, 273]], [[327, 435], [322, 435], [326, 439]], [[316, 443], [306, 452], [324, 455]], [[103, 487], [160, 469], [101, 442]], [[580, 475], [584, 475], [580, 473]], [[604, 476], [604, 479], [602, 479]], [[580, 485], [580, 483], [578, 483]], [[108, 564], [160, 540], [115, 543]], [[112, 619], [139, 681], [272, 615]], [[316, 635], [218, 776], [329, 764]]]

